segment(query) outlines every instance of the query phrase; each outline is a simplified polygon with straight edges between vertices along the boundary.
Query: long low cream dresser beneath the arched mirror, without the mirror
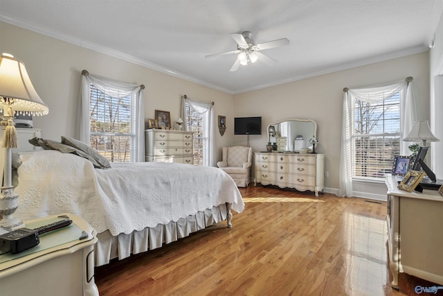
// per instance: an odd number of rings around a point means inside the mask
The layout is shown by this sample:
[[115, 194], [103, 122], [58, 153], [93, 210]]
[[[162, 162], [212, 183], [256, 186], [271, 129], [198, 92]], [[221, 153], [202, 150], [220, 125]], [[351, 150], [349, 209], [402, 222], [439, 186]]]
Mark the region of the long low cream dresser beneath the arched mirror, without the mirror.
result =
[[325, 187], [325, 155], [299, 153], [255, 153], [255, 184], [314, 191]]

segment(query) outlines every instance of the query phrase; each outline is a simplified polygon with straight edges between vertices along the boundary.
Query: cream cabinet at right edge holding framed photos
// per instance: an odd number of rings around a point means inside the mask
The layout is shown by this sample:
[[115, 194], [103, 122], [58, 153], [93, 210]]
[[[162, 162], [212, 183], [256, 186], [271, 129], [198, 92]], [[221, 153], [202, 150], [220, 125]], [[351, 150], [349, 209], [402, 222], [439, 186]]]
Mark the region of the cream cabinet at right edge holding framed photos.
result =
[[388, 252], [392, 286], [400, 272], [443, 285], [443, 196], [435, 190], [397, 189], [403, 177], [386, 175]]

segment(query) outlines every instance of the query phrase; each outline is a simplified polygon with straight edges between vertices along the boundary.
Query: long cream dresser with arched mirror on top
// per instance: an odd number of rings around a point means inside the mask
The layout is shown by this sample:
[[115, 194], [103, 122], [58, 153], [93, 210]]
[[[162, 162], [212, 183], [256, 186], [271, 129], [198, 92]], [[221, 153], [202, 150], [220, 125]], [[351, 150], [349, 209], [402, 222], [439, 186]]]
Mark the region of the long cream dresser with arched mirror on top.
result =
[[325, 155], [315, 153], [317, 123], [307, 119], [287, 119], [268, 125], [270, 153], [255, 153], [255, 185], [275, 185], [298, 191], [325, 187]]

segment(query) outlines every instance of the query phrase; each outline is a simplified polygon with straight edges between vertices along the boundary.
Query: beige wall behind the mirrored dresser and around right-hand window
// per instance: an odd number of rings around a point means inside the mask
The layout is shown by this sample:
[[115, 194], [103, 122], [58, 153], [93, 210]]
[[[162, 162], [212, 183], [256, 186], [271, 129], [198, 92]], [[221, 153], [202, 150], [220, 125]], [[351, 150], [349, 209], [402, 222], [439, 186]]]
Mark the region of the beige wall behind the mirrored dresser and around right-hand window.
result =
[[[344, 87], [365, 87], [413, 76], [419, 119], [429, 117], [428, 53], [378, 62], [363, 67], [307, 78], [284, 85], [235, 95], [235, 116], [262, 116], [261, 136], [250, 136], [253, 151], [266, 150], [266, 127], [282, 119], [314, 119], [318, 125], [318, 153], [325, 153], [325, 186], [338, 188]], [[246, 136], [235, 136], [244, 144]]]

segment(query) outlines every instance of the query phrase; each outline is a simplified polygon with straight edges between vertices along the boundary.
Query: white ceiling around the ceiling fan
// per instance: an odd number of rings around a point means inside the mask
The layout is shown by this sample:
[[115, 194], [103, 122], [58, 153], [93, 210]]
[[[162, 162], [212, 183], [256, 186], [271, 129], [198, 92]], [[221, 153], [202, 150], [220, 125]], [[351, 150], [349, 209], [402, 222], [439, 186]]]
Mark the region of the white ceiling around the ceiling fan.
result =
[[[230, 94], [426, 51], [442, 0], [0, 0], [0, 21]], [[230, 72], [230, 33], [278, 60]]]

